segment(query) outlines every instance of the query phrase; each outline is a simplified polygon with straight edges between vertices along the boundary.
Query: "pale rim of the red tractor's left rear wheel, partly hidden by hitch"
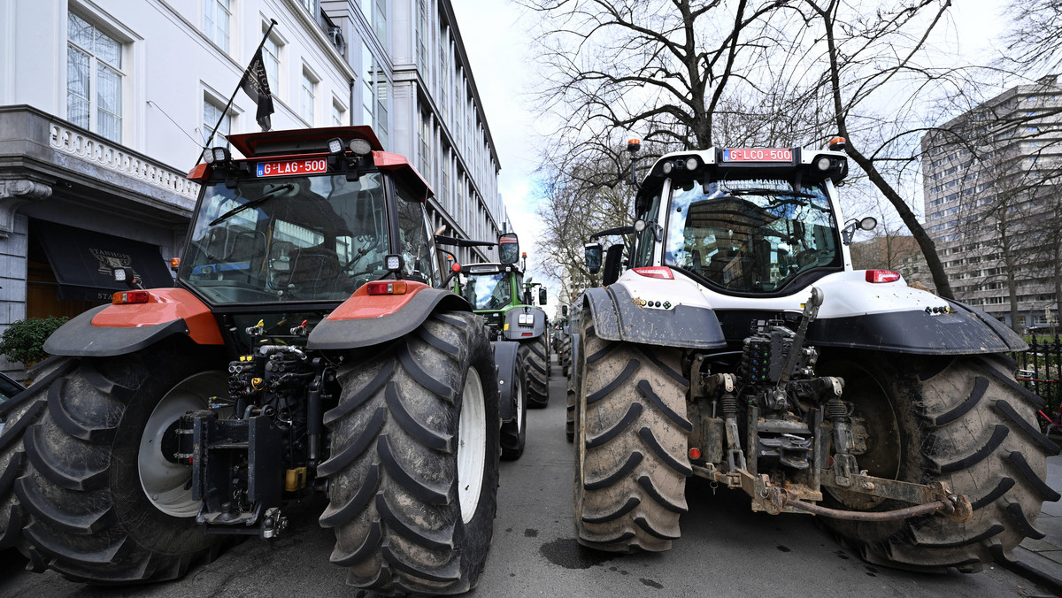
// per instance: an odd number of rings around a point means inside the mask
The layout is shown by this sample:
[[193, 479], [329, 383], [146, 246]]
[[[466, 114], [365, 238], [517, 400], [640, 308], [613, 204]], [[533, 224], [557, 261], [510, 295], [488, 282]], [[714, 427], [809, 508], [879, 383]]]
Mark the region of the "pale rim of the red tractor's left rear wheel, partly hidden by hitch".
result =
[[162, 439], [170, 426], [188, 411], [207, 408], [207, 399], [224, 393], [225, 375], [203, 372], [185, 378], [166, 393], [144, 425], [137, 451], [140, 486], [156, 509], [174, 517], [193, 517], [201, 502], [192, 499], [192, 467], [174, 463], [162, 455]]

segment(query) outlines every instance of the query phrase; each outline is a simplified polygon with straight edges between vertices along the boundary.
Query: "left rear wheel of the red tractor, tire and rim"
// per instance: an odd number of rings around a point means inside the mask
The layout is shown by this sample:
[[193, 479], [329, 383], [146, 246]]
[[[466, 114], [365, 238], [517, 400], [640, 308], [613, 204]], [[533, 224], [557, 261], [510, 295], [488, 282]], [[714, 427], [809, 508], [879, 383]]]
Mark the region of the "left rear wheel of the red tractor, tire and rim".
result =
[[173, 338], [130, 355], [82, 358], [34, 385], [47, 409], [23, 440], [15, 494], [31, 566], [92, 583], [164, 581], [212, 560], [221, 539], [195, 523], [191, 466], [173, 461], [173, 424], [227, 393], [224, 357]]

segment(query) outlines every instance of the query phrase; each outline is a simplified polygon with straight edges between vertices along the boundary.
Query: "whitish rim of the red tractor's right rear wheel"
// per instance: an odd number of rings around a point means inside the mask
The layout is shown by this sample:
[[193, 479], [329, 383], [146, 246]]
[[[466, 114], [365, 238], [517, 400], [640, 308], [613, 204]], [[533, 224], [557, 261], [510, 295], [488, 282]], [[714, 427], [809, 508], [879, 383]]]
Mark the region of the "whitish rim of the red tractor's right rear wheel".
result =
[[476, 514], [483, 485], [486, 461], [486, 406], [483, 383], [475, 368], [468, 369], [461, 392], [461, 417], [458, 420], [458, 502], [461, 520], [468, 523]]

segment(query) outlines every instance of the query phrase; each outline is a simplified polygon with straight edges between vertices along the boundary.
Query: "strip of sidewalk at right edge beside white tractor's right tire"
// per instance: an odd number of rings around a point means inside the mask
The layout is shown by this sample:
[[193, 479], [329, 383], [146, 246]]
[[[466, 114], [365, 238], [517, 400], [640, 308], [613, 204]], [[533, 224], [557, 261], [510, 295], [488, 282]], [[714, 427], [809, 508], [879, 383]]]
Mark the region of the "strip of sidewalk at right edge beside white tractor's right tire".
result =
[[[1051, 440], [1062, 442], [1054, 434]], [[1047, 458], [1047, 484], [1062, 492], [1062, 455]], [[1014, 562], [1000, 564], [1062, 595], [1062, 500], [1044, 502], [1034, 526], [1044, 537], [1025, 539], [1014, 549]]]

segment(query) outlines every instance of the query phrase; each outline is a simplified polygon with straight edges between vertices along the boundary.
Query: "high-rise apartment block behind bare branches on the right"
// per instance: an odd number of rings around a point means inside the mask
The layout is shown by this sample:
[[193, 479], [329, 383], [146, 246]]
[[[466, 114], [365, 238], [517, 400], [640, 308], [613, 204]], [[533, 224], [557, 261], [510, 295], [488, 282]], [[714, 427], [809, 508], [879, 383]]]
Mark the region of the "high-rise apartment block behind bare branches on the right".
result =
[[956, 298], [1016, 329], [1058, 318], [1060, 113], [1062, 87], [1045, 76], [922, 138], [925, 226]]

